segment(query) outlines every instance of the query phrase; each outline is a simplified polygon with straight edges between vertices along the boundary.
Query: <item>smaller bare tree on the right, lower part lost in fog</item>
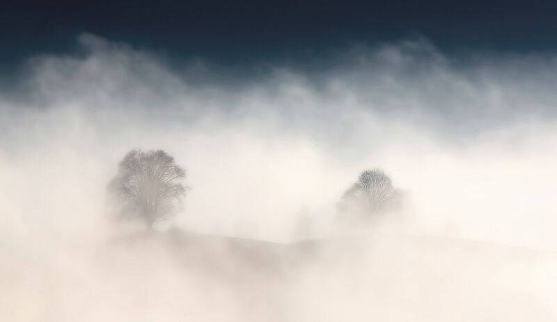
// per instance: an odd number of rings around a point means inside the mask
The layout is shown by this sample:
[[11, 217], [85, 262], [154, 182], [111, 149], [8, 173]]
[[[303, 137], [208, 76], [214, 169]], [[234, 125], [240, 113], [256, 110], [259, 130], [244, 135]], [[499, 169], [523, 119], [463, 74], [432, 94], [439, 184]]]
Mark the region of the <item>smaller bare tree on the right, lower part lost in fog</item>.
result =
[[363, 171], [340, 201], [341, 210], [364, 214], [382, 213], [400, 205], [401, 193], [382, 170]]

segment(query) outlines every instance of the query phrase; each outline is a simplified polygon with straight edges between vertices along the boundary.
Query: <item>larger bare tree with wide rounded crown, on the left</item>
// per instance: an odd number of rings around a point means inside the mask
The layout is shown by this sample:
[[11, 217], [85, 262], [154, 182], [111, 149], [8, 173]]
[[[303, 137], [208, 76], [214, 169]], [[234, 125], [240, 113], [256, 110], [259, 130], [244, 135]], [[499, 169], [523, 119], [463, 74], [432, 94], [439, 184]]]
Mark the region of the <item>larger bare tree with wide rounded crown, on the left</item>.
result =
[[175, 215], [185, 196], [186, 172], [162, 150], [128, 152], [109, 184], [119, 218], [139, 218], [148, 229]]

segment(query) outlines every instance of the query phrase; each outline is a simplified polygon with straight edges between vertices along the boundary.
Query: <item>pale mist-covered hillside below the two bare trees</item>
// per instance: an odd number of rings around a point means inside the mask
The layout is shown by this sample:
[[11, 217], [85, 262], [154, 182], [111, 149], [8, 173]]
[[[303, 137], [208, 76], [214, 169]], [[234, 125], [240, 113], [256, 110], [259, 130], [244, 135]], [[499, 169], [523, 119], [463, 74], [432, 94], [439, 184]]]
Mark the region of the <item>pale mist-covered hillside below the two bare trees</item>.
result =
[[557, 255], [375, 233], [2, 247], [0, 321], [556, 321]]

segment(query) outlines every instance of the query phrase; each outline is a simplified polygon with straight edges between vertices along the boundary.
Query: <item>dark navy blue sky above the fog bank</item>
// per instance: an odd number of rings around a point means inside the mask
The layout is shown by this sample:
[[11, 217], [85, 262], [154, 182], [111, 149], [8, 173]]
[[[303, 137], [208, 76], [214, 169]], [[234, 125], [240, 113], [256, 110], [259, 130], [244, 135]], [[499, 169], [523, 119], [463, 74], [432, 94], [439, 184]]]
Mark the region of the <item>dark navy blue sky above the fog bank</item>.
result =
[[295, 59], [421, 34], [446, 51], [557, 47], [557, 1], [13, 1], [0, 59], [66, 52], [82, 32], [222, 63]]

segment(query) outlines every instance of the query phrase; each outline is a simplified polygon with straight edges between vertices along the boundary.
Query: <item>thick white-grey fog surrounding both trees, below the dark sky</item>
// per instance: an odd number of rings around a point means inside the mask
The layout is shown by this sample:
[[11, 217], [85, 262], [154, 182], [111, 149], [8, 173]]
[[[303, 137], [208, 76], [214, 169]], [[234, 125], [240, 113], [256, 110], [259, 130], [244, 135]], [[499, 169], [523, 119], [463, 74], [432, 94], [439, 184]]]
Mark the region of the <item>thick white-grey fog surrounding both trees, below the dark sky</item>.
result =
[[[84, 34], [3, 75], [0, 319], [554, 321], [557, 56], [415, 38], [258, 64]], [[187, 169], [152, 234], [108, 216], [133, 148]], [[371, 167], [405, 207], [338, 224]]]

